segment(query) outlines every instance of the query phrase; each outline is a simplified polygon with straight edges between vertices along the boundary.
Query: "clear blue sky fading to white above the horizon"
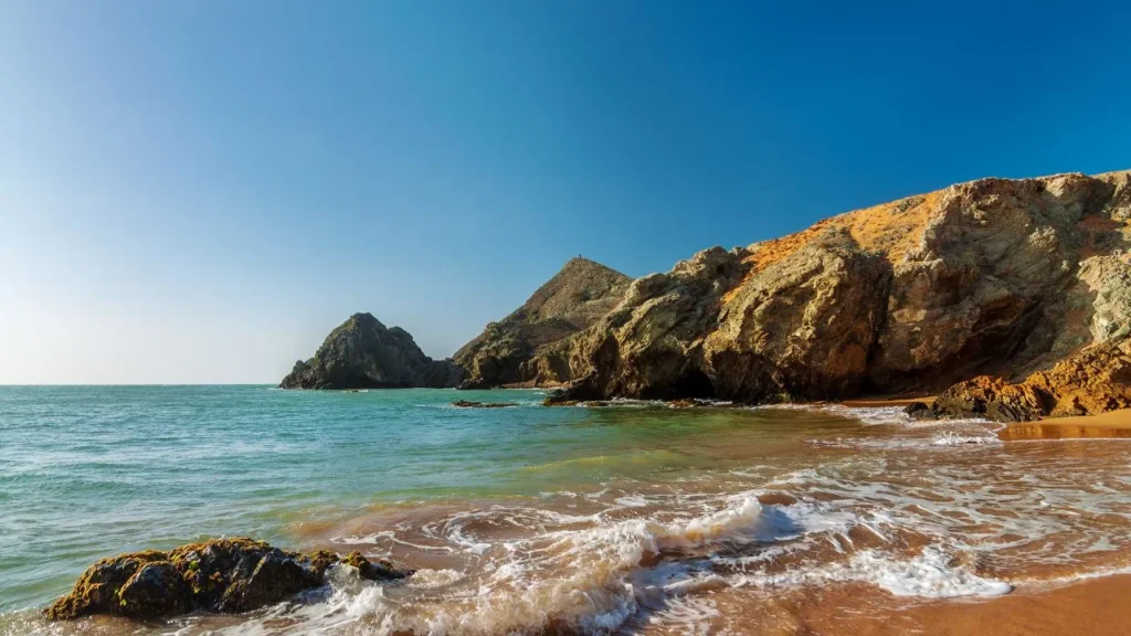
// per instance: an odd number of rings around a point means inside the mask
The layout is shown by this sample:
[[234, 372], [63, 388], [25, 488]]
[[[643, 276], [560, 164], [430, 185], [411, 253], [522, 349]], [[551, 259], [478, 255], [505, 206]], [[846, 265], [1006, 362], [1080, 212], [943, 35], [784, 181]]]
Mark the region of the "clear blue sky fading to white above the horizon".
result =
[[0, 0], [0, 384], [446, 356], [578, 253], [1131, 167], [1126, 5], [924, 5]]

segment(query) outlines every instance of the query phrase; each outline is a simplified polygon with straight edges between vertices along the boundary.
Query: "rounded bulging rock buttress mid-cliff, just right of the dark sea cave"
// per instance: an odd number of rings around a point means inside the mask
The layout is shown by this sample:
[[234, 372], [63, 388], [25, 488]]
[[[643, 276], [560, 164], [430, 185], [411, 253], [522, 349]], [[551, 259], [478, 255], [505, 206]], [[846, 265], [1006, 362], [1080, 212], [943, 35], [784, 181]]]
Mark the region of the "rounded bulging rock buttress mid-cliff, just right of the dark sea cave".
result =
[[884, 316], [889, 264], [834, 231], [754, 267], [724, 296], [705, 341], [714, 393], [744, 402], [860, 393]]

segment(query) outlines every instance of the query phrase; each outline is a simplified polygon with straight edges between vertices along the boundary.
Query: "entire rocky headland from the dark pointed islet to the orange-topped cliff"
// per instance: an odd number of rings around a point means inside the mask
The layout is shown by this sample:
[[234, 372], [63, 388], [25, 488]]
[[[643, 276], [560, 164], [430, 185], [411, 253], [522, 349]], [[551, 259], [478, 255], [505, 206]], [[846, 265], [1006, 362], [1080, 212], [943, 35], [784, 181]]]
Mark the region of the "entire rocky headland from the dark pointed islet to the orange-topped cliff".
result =
[[1126, 403], [1129, 248], [1131, 171], [982, 179], [636, 281], [572, 259], [454, 361], [356, 315], [282, 386], [753, 403], [960, 383], [917, 415], [1091, 413]]

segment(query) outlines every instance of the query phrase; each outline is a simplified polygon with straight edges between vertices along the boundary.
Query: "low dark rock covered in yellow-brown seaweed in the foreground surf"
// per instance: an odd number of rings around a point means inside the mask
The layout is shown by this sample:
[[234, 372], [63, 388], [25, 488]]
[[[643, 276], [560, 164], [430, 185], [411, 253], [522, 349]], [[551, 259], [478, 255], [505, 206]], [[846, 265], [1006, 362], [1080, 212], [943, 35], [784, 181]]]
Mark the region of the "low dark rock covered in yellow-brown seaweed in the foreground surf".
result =
[[44, 610], [52, 620], [89, 614], [166, 618], [193, 610], [245, 612], [326, 584], [336, 564], [357, 568], [363, 578], [394, 581], [412, 574], [360, 552], [345, 559], [320, 550], [309, 555], [245, 538], [216, 539], [170, 552], [146, 550], [103, 559]]

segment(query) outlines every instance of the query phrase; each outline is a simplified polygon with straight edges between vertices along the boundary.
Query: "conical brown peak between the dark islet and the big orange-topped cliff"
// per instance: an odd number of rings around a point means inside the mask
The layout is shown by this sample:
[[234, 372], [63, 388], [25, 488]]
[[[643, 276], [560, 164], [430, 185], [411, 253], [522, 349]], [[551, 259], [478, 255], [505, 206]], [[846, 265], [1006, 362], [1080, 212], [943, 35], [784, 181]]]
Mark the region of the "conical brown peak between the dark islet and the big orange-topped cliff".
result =
[[534, 295], [491, 323], [455, 354], [465, 387], [556, 385], [572, 379], [567, 338], [607, 315], [631, 278], [585, 258], [570, 259]]

